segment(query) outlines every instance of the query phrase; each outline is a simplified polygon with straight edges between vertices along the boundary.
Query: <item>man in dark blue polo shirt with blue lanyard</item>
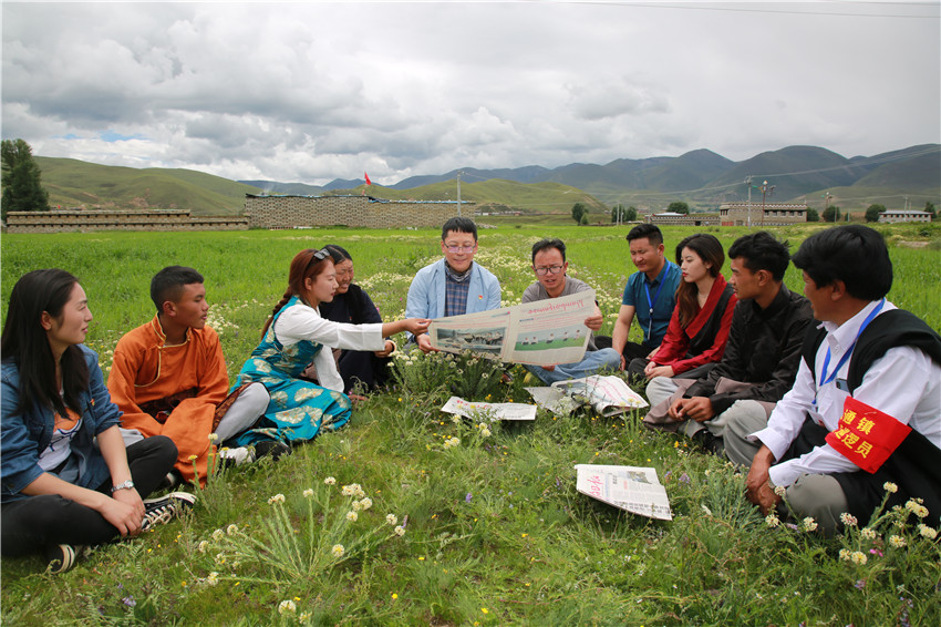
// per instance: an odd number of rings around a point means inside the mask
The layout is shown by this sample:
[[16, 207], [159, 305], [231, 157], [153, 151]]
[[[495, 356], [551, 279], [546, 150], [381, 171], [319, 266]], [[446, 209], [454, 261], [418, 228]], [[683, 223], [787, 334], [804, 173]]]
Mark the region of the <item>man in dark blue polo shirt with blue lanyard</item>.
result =
[[[611, 348], [621, 356], [621, 368], [638, 358], [650, 359], [660, 348], [673, 307], [682, 273], [663, 256], [663, 234], [652, 224], [642, 224], [628, 233], [631, 261], [638, 271], [624, 286], [621, 310], [611, 333]], [[628, 341], [634, 317], [643, 331], [641, 343]], [[640, 372], [642, 374], [642, 372]]]

